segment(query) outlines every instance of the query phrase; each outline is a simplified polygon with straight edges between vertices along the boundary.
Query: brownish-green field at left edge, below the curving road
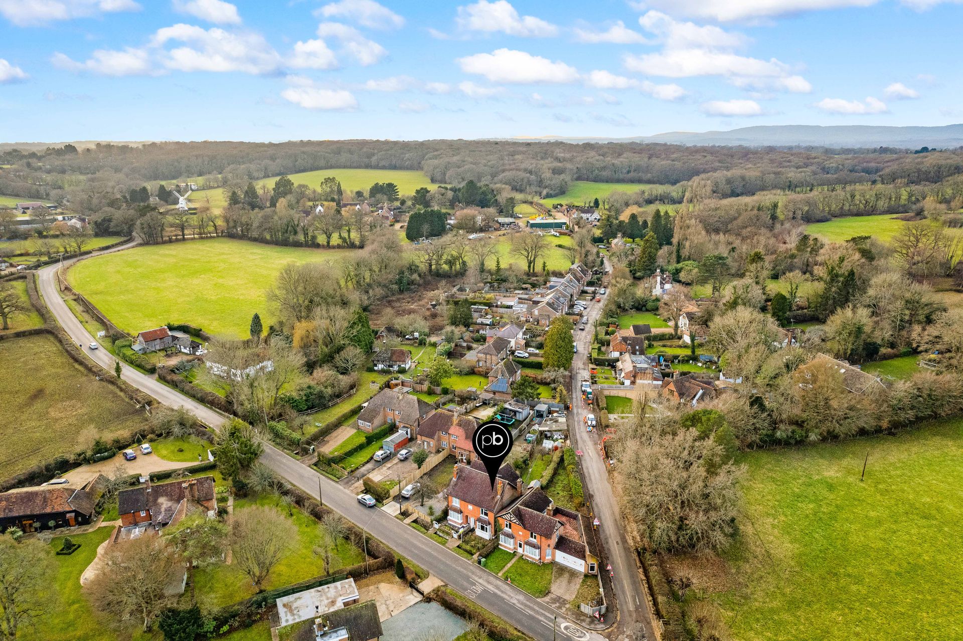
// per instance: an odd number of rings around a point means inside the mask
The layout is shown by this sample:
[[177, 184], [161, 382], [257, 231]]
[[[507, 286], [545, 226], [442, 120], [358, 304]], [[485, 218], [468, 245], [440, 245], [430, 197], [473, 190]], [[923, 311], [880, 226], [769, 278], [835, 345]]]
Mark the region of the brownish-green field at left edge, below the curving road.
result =
[[51, 336], [0, 341], [0, 363], [9, 377], [0, 395], [5, 478], [146, 422], [143, 410], [74, 363]]

